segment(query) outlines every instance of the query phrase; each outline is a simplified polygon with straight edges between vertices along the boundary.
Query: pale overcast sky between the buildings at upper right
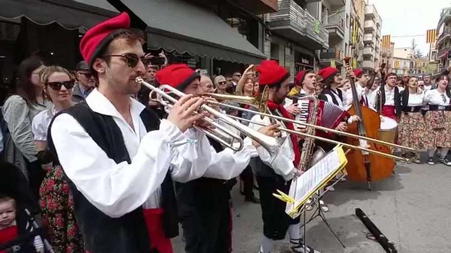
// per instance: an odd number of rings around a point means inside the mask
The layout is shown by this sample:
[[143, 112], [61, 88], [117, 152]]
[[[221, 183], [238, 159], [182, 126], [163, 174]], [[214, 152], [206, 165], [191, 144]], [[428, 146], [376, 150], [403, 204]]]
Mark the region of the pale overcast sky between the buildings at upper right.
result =
[[451, 0], [367, 0], [376, 7], [382, 19], [382, 35], [392, 35], [395, 48], [411, 47], [412, 38], [423, 55], [429, 53], [426, 36], [396, 38], [394, 36], [426, 35], [436, 29], [442, 8], [451, 7]]

